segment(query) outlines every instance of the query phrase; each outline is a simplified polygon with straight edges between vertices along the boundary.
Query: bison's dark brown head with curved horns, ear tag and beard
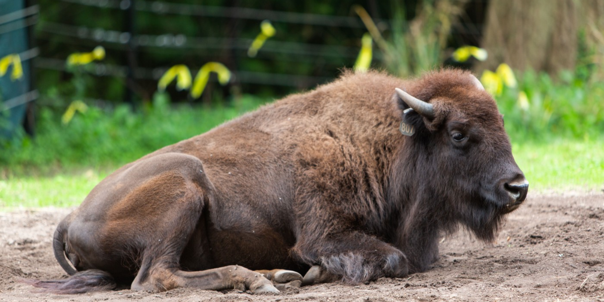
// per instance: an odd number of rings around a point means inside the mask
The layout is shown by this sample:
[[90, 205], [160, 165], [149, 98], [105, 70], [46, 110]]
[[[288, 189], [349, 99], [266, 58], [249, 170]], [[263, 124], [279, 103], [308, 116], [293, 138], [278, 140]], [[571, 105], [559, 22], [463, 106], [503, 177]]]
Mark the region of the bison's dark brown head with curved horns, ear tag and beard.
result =
[[415, 129], [411, 160], [414, 173], [425, 173], [418, 194], [443, 212], [437, 217], [492, 241], [528, 191], [495, 100], [462, 71], [431, 74], [410, 83], [408, 92], [396, 89], [396, 98], [403, 124]]

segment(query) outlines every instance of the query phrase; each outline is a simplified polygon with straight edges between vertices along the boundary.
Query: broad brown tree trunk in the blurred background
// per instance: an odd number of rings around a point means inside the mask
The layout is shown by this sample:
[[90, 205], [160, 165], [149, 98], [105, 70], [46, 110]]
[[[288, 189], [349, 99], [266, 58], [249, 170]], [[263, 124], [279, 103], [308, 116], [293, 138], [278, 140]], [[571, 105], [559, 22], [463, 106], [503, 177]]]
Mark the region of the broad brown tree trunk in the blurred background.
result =
[[[597, 2], [597, 0], [594, 0]], [[545, 71], [557, 76], [574, 70], [581, 1], [491, 0], [481, 47], [489, 53], [475, 71], [494, 70], [500, 63], [513, 69]]]

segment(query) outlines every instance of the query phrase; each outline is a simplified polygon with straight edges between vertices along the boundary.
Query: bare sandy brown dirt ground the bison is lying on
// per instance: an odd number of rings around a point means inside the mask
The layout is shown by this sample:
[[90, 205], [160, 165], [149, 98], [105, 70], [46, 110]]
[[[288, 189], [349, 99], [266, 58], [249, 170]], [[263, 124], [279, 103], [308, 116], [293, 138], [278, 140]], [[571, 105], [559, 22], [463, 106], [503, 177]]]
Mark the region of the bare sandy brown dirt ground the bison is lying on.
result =
[[175, 289], [54, 295], [20, 278], [65, 277], [51, 236], [65, 209], [0, 212], [0, 302], [4, 301], [604, 301], [604, 193], [529, 193], [492, 246], [460, 233], [441, 243], [422, 274], [370, 284], [307, 286], [280, 295]]

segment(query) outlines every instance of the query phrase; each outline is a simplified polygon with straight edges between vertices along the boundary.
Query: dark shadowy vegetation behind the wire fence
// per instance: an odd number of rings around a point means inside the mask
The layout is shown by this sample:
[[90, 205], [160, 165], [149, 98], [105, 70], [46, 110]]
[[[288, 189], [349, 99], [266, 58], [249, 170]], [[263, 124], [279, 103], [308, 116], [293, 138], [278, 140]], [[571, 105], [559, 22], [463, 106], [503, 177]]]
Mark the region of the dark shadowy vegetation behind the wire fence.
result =
[[[466, 1], [450, 1], [463, 3]], [[97, 73], [95, 89], [88, 97], [123, 101], [127, 87], [135, 101], [147, 101], [157, 80], [169, 66], [184, 64], [191, 70], [205, 62], [225, 64], [236, 74], [226, 88], [210, 85], [204, 100], [223, 99], [247, 93], [279, 97], [309, 89], [337, 77], [342, 68], [352, 68], [367, 28], [353, 11], [362, 5], [385, 37], [393, 34], [392, 19], [416, 18], [422, 1], [142, 1], [135, 0], [134, 13], [123, 10], [118, 0], [40, 0], [40, 20], [35, 28], [40, 64], [40, 89], [56, 89], [69, 96], [61, 83], [72, 76], [61, 62], [76, 52], [103, 45], [106, 68]], [[456, 48], [480, 42], [486, 1], [464, 7], [466, 20], [452, 28], [446, 45]], [[461, 5], [460, 5], [461, 6]], [[454, 16], [452, 16], [454, 17]], [[448, 17], [449, 18], [449, 17]], [[277, 34], [257, 57], [247, 50], [260, 31], [260, 22], [272, 21]], [[478, 23], [477, 23], [478, 22]], [[133, 33], [138, 43], [120, 41]], [[129, 58], [133, 48], [134, 59]], [[382, 67], [376, 52], [374, 66]], [[132, 62], [133, 61], [133, 62]], [[133, 63], [135, 83], [126, 82], [126, 69]], [[53, 91], [55, 93], [55, 91]], [[185, 92], [170, 91], [174, 100], [186, 100]]]

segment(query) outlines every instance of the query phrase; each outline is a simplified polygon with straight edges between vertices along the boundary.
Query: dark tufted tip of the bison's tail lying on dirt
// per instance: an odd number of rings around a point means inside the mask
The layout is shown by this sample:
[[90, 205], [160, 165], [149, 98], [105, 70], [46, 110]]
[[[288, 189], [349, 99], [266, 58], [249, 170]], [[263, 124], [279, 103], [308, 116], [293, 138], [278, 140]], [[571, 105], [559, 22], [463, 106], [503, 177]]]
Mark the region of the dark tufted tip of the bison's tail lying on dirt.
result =
[[23, 282], [36, 288], [42, 288], [42, 292], [53, 294], [83, 294], [93, 291], [109, 291], [117, 287], [112, 275], [99, 269], [76, 272], [63, 280], [23, 280]]

